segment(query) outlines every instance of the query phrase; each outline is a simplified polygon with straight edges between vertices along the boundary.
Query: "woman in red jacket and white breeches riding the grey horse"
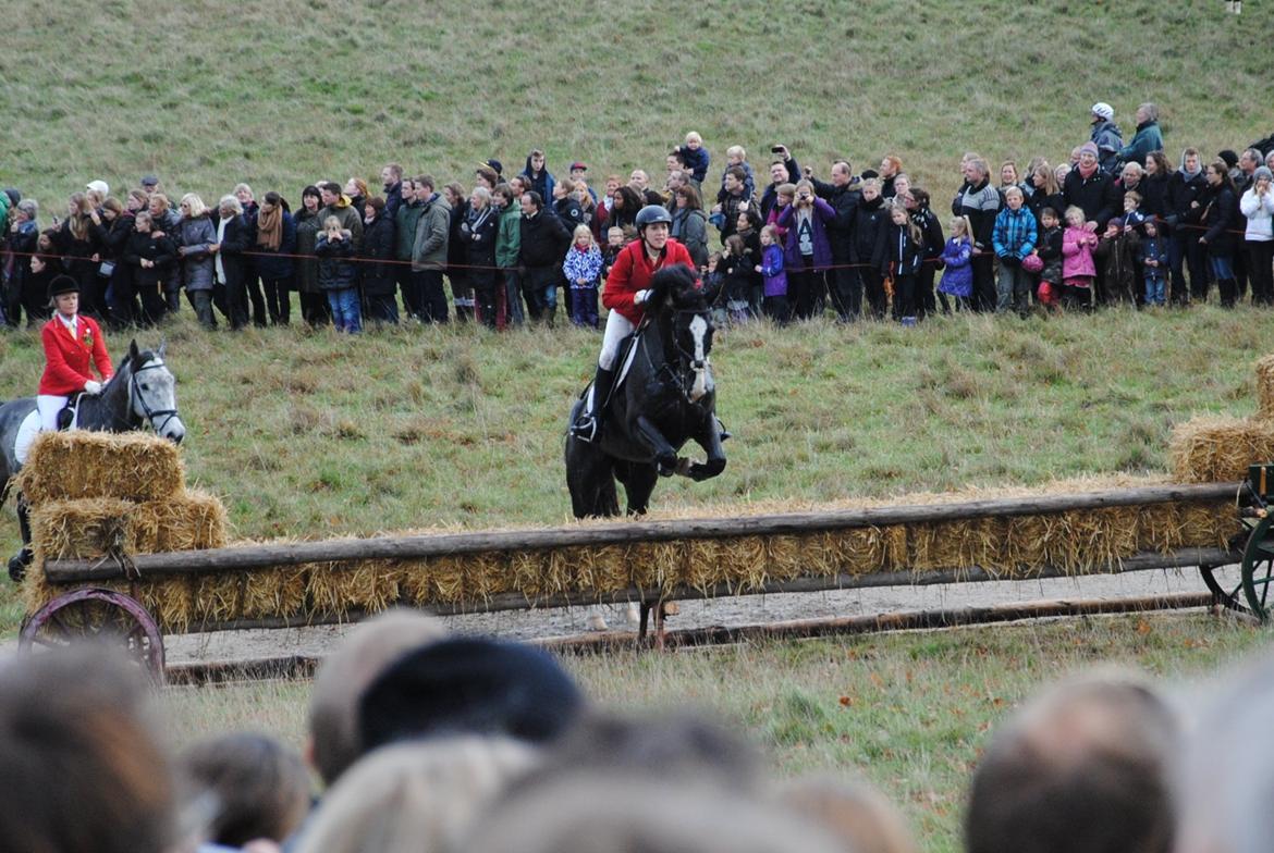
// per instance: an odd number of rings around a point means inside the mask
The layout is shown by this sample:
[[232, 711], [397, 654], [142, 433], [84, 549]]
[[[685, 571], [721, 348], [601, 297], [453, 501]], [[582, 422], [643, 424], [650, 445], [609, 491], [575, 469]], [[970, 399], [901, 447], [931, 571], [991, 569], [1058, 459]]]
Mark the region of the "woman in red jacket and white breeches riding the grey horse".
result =
[[[39, 332], [45, 344], [45, 374], [36, 397], [41, 430], [57, 429], [57, 412], [66, 406], [68, 397], [80, 391], [101, 393], [115, 374], [101, 327], [92, 317], [79, 314], [75, 279], [59, 275], [50, 283], [48, 295], [57, 311]], [[93, 378], [93, 367], [101, 381]]]

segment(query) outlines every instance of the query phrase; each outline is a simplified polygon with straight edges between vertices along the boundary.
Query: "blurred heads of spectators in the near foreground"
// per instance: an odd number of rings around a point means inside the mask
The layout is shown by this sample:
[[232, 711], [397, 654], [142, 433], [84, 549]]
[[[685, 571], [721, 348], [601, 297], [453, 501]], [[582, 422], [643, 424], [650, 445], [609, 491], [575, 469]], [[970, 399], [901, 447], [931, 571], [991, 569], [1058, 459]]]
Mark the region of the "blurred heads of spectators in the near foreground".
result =
[[[964, 849], [1265, 850], [1271, 676], [1261, 659], [1206, 690], [1115, 670], [1046, 686], [980, 751]], [[0, 848], [919, 850], [902, 812], [861, 780], [780, 780], [727, 724], [606, 710], [548, 653], [448, 637], [414, 611], [369, 620], [322, 662], [302, 751], [238, 732], [173, 751], [152, 699], [102, 648], [4, 661]]]

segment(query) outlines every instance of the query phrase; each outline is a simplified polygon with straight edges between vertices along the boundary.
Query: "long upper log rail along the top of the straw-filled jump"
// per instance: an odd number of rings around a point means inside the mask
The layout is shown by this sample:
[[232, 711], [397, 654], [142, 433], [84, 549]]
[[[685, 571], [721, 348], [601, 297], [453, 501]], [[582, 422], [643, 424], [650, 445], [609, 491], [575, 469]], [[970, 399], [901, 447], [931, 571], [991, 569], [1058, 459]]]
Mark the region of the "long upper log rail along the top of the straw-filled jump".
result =
[[[896, 525], [939, 523], [970, 518], [1047, 516], [1083, 509], [1224, 500], [1231, 499], [1237, 488], [1237, 483], [1162, 485], [1031, 498], [996, 498], [959, 503], [906, 504], [827, 512], [741, 516], [734, 518], [626, 521], [535, 530], [474, 531], [242, 545], [201, 551], [139, 554], [132, 558], [132, 565], [143, 578], [147, 578], [242, 572], [282, 565], [298, 565], [302, 563], [341, 563], [373, 559], [418, 560], [493, 551], [729, 539], [734, 536], [801, 535], [856, 527], [891, 527]], [[1224, 563], [1227, 560], [1220, 559], [1220, 555], [1224, 554], [1224, 551], [1212, 549], [1209, 550], [1208, 559], [1212, 559], [1214, 564], [1218, 561]], [[1157, 559], [1159, 563], [1153, 568], [1181, 564], [1173, 563], [1162, 555], [1157, 555]], [[1190, 564], [1195, 565], [1198, 563]], [[51, 560], [45, 564], [45, 574], [50, 583], [84, 583], [118, 579], [125, 577], [125, 570], [113, 560]], [[910, 577], [913, 581], [919, 581], [921, 577], [920, 574], [912, 575], [908, 573], [896, 574]], [[829, 584], [834, 586], [832, 578], [810, 581], [817, 582], [819, 584], [818, 588], [828, 588]], [[854, 586], [862, 586], [861, 579]], [[525, 607], [525, 598], [522, 598], [522, 602]]]

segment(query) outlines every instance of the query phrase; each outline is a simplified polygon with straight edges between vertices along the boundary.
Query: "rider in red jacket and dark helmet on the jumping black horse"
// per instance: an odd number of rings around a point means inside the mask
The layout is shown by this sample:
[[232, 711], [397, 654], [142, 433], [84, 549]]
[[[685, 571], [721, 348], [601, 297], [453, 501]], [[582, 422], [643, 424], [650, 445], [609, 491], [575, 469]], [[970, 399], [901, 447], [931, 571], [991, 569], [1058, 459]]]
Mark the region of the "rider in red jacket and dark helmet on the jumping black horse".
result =
[[601, 414], [615, 382], [615, 358], [619, 341], [641, 322], [646, 313], [651, 279], [666, 266], [684, 264], [694, 269], [689, 251], [668, 236], [673, 218], [659, 205], [646, 205], [637, 213], [638, 239], [626, 246], [615, 258], [606, 279], [601, 304], [606, 314], [606, 331], [601, 337], [601, 355], [598, 356], [598, 376], [580, 419], [571, 427], [571, 434], [591, 442], [601, 429]]

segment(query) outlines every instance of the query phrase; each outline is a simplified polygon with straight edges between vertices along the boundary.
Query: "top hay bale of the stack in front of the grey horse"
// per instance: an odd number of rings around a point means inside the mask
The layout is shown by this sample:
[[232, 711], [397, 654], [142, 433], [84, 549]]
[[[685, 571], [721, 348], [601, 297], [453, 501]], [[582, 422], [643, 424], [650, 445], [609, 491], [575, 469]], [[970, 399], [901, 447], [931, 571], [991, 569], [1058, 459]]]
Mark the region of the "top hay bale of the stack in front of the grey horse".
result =
[[78, 498], [157, 500], [186, 483], [177, 446], [149, 433], [41, 433], [18, 475], [32, 504]]

